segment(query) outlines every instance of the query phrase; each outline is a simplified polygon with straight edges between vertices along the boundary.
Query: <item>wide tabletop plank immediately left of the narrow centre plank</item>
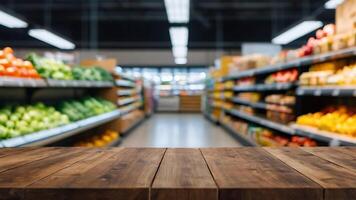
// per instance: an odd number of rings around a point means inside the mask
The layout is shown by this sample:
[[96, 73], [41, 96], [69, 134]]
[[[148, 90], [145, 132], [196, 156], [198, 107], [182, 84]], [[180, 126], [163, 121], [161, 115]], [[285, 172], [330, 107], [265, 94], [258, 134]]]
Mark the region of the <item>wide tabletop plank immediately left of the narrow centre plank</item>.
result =
[[26, 197], [146, 200], [164, 152], [154, 148], [112, 148], [35, 182], [27, 187]]

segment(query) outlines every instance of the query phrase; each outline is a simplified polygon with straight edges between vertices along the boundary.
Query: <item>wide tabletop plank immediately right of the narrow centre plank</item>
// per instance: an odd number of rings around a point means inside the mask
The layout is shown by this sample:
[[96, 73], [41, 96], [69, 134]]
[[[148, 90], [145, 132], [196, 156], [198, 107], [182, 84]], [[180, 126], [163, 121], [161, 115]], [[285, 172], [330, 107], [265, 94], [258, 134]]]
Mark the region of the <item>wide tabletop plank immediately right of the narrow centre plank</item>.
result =
[[322, 188], [261, 148], [202, 149], [219, 199], [322, 199]]

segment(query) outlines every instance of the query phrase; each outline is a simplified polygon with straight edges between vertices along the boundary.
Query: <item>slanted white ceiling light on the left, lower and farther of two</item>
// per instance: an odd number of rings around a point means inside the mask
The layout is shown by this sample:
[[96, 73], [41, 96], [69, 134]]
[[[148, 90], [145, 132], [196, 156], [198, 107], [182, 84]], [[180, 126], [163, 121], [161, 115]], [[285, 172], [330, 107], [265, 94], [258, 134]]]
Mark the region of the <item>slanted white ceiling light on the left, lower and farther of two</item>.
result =
[[55, 35], [45, 29], [31, 29], [28, 31], [28, 34], [31, 37], [34, 37], [38, 40], [41, 40], [43, 42], [46, 42], [50, 45], [53, 45], [55, 47], [58, 47], [60, 49], [74, 49], [75, 45], [72, 42], [69, 42], [68, 40]]

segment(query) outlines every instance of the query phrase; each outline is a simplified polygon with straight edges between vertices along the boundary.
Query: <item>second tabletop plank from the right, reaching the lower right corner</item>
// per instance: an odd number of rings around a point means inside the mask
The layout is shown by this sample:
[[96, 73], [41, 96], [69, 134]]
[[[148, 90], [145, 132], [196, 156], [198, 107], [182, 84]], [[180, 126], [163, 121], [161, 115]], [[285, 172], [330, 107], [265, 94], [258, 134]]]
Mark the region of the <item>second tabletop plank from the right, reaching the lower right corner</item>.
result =
[[[354, 199], [356, 196], [356, 173], [317, 157], [301, 148], [266, 148], [284, 163], [298, 170], [324, 188], [324, 197]], [[334, 153], [330, 151], [330, 153]]]

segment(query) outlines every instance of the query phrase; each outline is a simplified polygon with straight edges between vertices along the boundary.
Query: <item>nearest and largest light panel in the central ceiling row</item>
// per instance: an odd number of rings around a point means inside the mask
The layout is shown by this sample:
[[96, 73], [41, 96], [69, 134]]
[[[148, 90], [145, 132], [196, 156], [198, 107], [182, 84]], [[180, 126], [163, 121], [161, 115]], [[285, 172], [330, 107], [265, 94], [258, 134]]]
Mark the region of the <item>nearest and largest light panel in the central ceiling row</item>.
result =
[[164, 0], [169, 23], [188, 23], [189, 4], [189, 0]]

